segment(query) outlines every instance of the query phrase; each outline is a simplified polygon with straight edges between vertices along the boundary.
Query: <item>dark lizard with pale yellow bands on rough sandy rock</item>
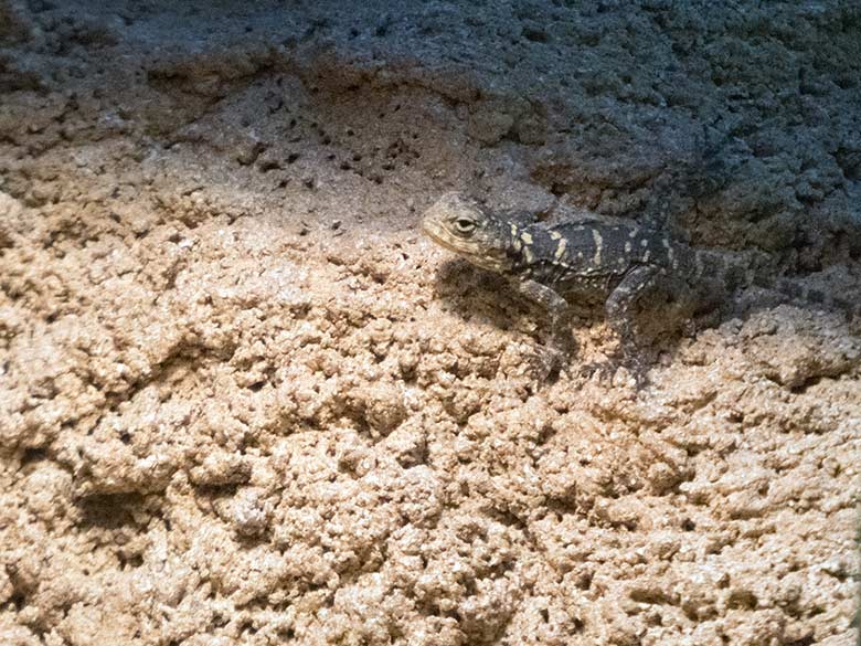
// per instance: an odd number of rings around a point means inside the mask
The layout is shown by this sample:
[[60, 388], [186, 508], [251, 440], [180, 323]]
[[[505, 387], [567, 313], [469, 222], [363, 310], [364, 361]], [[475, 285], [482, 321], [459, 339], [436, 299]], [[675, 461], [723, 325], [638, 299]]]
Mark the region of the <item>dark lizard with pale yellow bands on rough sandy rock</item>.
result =
[[[524, 225], [455, 192], [425, 212], [422, 227], [440, 246], [504, 276], [518, 293], [543, 306], [554, 340], [570, 299], [603, 303], [624, 354], [636, 336], [635, 308], [645, 299], [665, 294], [716, 305], [755, 274], [737, 260], [636, 223]], [[812, 296], [821, 301], [821, 295]]]

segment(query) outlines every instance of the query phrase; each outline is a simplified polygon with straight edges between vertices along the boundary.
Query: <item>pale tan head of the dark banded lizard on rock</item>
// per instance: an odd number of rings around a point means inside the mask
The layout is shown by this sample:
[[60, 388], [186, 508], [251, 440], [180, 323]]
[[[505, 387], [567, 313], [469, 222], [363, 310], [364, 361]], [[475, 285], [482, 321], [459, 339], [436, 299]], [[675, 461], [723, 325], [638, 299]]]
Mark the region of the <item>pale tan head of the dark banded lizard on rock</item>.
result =
[[479, 267], [506, 272], [511, 226], [457, 193], [446, 193], [431, 206], [422, 229], [438, 245]]

